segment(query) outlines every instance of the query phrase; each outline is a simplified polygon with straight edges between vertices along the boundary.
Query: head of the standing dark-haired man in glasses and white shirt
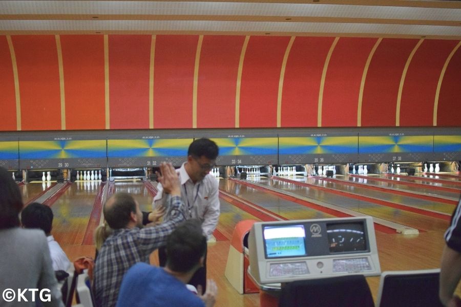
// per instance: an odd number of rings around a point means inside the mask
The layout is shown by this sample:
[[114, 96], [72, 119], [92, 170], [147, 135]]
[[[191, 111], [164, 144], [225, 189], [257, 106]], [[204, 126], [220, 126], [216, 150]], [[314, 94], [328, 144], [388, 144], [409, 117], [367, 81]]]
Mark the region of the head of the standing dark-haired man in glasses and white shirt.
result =
[[219, 154], [218, 145], [212, 140], [194, 140], [187, 150], [188, 174], [193, 181], [202, 180], [215, 166]]

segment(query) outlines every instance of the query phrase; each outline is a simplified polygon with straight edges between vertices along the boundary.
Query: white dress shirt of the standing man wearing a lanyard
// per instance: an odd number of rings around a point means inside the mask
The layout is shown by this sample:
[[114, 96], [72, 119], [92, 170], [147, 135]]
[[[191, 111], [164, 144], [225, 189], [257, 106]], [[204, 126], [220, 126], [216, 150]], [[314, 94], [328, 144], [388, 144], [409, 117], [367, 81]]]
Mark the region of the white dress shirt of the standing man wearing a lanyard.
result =
[[[181, 181], [181, 197], [185, 204], [183, 214], [186, 219], [197, 218], [200, 220], [202, 222], [203, 234], [209, 238], [218, 224], [220, 213], [218, 181], [212, 174], [207, 174], [201, 181], [193, 183], [184, 168], [185, 163], [187, 162], [184, 162], [176, 170]], [[160, 183], [157, 185], [157, 190], [153, 207], [164, 205], [167, 208], [166, 200], [169, 195], [164, 197], [163, 187]], [[164, 220], [167, 220], [168, 216], [169, 212], [167, 209]]]

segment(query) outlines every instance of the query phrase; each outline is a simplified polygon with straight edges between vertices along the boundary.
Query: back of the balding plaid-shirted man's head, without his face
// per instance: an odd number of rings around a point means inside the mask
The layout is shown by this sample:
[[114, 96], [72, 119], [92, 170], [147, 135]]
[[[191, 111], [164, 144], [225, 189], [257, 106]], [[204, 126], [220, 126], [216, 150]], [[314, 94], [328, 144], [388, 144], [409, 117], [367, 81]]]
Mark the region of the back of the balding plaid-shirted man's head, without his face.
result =
[[104, 218], [112, 229], [127, 227], [132, 212], [136, 212], [136, 202], [128, 193], [116, 193], [103, 208]]

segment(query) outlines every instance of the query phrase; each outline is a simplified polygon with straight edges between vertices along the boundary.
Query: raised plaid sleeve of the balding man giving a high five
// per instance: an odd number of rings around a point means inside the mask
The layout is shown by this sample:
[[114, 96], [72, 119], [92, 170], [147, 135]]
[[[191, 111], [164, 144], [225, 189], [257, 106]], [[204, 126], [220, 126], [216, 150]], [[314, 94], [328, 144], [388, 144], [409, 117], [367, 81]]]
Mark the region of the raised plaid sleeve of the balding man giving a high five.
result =
[[144, 251], [154, 251], [165, 245], [166, 237], [185, 220], [183, 215], [184, 202], [181, 196], [173, 196], [170, 199], [171, 215], [167, 222], [153, 227], [145, 227], [138, 232], [139, 248]]

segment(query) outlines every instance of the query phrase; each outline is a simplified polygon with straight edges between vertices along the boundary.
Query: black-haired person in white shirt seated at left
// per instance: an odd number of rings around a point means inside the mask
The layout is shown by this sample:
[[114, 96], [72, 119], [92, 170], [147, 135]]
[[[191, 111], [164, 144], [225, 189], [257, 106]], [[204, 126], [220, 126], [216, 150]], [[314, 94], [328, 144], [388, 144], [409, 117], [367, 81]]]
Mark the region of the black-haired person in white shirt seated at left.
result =
[[69, 258], [51, 235], [53, 211], [50, 207], [39, 203], [28, 205], [21, 211], [21, 224], [24, 228], [38, 228], [45, 232], [54, 271], [67, 271], [69, 269], [71, 264]]

